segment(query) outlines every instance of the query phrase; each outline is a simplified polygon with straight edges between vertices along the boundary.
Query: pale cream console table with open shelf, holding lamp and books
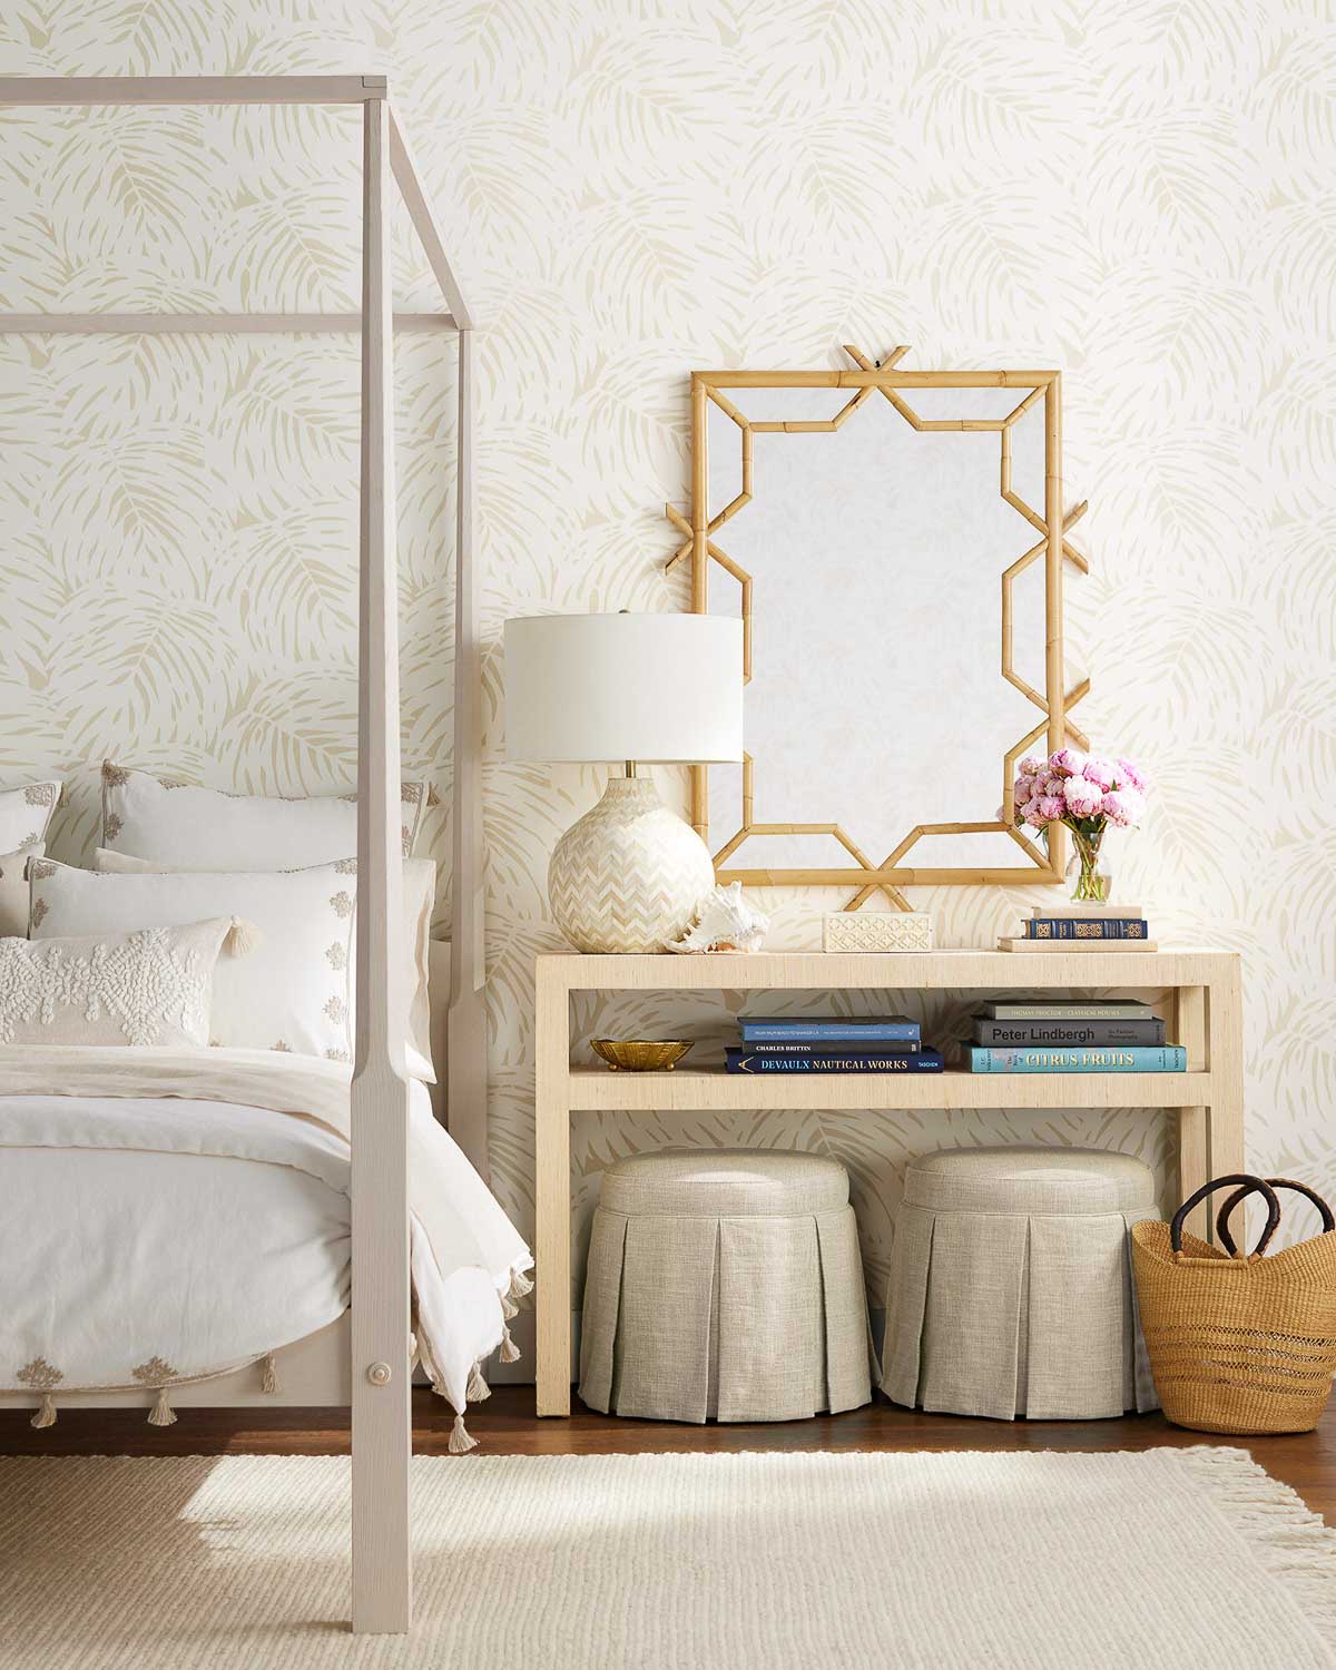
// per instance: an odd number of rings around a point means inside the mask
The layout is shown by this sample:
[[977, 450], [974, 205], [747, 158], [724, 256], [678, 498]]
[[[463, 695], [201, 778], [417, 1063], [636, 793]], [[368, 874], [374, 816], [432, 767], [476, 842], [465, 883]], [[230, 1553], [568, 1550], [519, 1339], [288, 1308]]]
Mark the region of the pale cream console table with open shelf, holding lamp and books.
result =
[[[1234, 952], [755, 952], [539, 955], [536, 967], [538, 1413], [571, 1413], [571, 1114], [576, 1109], [1167, 1107], [1179, 1116], [1179, 1189], [1241, 1171], [1242, 995]], [[571, 1065], [573, 992], [1107, 992], [1164, 994], [1187, 1072], [782, 1074], [610, 1072]], [[666, 1029], [665, 1029], [666, 1030]], [[1201, 1209], [1199, 1209], [1201, 1211]]]

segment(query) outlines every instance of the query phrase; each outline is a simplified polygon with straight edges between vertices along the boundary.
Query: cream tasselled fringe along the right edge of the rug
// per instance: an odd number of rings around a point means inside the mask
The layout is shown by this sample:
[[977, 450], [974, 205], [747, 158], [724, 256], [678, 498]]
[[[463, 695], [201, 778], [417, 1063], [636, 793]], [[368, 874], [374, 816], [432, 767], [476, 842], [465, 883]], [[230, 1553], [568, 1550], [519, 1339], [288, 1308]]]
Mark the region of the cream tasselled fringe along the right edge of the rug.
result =
[[1197, 1445], [1177, 1455], [1209, 1486], [1266, 1570], [1289, 1588], [1303, 1615], [1336, 1647], [1336, 1530], [1246, 1450]]

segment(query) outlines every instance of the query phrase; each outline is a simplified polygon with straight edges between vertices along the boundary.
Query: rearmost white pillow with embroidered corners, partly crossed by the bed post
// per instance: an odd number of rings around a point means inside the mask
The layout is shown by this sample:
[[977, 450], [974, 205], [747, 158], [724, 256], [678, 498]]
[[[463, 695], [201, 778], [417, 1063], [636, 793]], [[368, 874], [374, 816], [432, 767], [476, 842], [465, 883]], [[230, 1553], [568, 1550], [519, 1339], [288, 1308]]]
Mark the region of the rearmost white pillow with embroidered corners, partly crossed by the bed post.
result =
[[[407, 855], [418, 840], [426, 783], [404, 783], [401, 793]], [[336, 863], [357, 850], [357, 797], [230, 795], [107, 762], [102, 767], [102, 845], [192, 870], [311, 868]]]

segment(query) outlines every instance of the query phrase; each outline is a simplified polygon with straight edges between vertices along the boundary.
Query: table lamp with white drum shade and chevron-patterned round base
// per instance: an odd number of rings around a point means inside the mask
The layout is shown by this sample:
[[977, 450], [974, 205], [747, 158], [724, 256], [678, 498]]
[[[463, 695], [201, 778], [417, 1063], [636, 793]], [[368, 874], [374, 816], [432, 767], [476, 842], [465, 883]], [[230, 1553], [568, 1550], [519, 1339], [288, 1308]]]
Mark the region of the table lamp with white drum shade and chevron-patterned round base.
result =
[[710, 852], [640, 765], [741, 760], [741, 621], [541, 615], [506, 621], [506, 757], [625, 762], [561, 837], [548, 897], [586, 952], [681, 939], [715, 887]]

